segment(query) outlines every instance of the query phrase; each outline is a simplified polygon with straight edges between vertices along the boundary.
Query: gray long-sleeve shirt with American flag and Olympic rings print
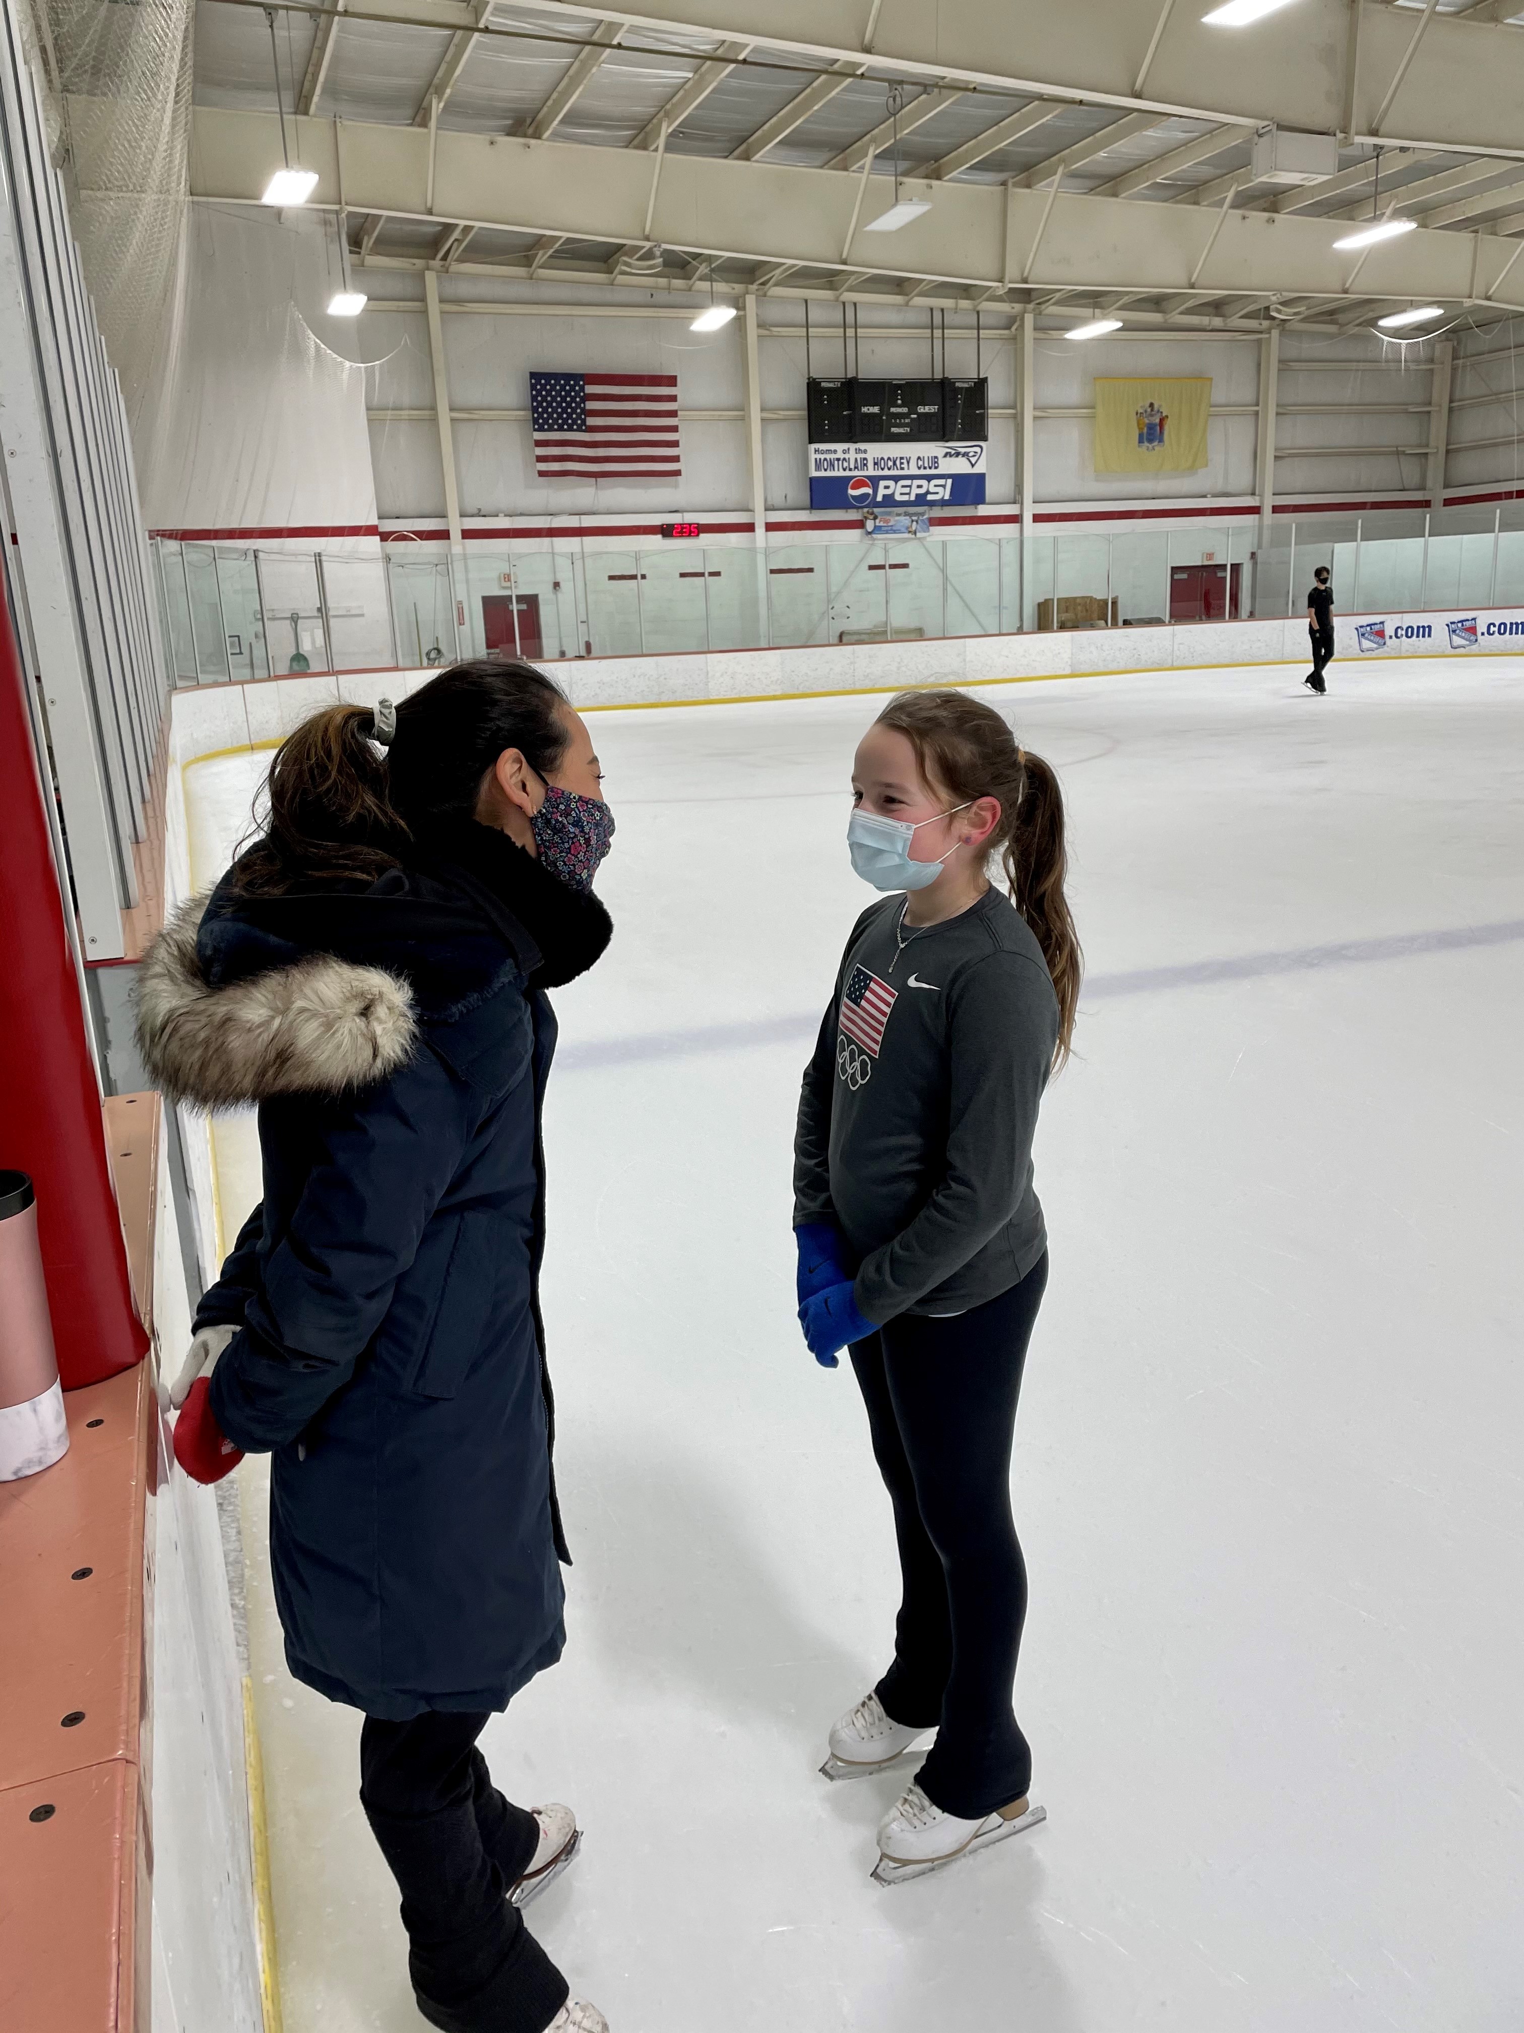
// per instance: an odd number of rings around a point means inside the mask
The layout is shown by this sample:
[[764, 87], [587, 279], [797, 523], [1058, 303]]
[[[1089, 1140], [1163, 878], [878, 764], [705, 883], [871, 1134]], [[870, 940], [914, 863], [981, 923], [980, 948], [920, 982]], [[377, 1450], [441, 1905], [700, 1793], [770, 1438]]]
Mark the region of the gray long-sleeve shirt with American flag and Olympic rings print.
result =
[[992, 888], [898, 951], [902, 905], [851, 929], [795, 1138], [795, 1226], [841, 1228], [872, 1321], [983, 1305], [1046, 1248], [1032, 1132], [1059, 1002], [1042, 949]]

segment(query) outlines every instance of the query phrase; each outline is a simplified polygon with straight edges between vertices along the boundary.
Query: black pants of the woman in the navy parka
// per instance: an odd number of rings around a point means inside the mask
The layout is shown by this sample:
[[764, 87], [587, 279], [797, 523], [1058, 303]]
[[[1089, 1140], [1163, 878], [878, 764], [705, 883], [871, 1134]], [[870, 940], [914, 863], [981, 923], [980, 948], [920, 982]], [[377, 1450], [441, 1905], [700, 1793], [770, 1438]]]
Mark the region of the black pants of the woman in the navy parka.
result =
[[538, 1822], [498, 1793], [475, 1748], [486, 1714], [366, 1716], [360, 1803], [402, 1893], [408, 1974], [449, 2033], [543, 2033], [567, 1980], [524, 1927], [508, 1887]]

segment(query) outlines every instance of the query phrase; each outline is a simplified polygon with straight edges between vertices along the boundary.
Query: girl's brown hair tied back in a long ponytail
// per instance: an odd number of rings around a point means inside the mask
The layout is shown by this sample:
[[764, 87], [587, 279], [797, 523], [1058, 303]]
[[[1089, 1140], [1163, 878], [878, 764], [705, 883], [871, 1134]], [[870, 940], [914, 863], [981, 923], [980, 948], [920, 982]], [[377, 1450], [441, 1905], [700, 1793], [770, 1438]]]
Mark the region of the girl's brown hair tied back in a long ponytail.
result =
[[1069, 854], [1059, 779], [1042, 756], [1018, 746], [992, 705], [965, 691], [902, 691], [878, 724], [904, 734], [929, 785], [965, 803], [979, 797], [1000, 803], [990, 856], [1000, 856], [1010, 901], [1042, 947], [1059, 998], [1057, 1071], [1073, 1045], [1083, 972], [1075, 921], [1063, 895]]

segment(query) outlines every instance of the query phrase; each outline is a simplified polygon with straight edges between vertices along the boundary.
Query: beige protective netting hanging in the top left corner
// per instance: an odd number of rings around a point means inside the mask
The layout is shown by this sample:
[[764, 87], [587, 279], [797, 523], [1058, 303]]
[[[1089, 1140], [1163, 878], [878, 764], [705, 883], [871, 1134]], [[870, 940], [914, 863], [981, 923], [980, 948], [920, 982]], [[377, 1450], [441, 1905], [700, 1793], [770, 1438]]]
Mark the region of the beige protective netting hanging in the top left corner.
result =
[[20, 0], [53, 155], [128, 413], [179, 323], [191, 0]]

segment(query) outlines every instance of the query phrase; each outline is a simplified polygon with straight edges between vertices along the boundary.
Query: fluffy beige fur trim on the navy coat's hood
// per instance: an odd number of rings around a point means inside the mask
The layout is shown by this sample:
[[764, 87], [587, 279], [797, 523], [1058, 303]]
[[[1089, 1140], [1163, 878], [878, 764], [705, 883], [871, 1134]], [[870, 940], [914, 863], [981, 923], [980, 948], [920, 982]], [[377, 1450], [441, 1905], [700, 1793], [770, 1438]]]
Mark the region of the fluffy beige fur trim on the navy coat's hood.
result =
[[213, 986], [197, 933], [207, 897], [169, 919], [142, 964], [138, 1049], [173, 1102], [240, 1108], [388, 1080], [417, 1047], [412, 988], [384, 968], [311, 953]]

